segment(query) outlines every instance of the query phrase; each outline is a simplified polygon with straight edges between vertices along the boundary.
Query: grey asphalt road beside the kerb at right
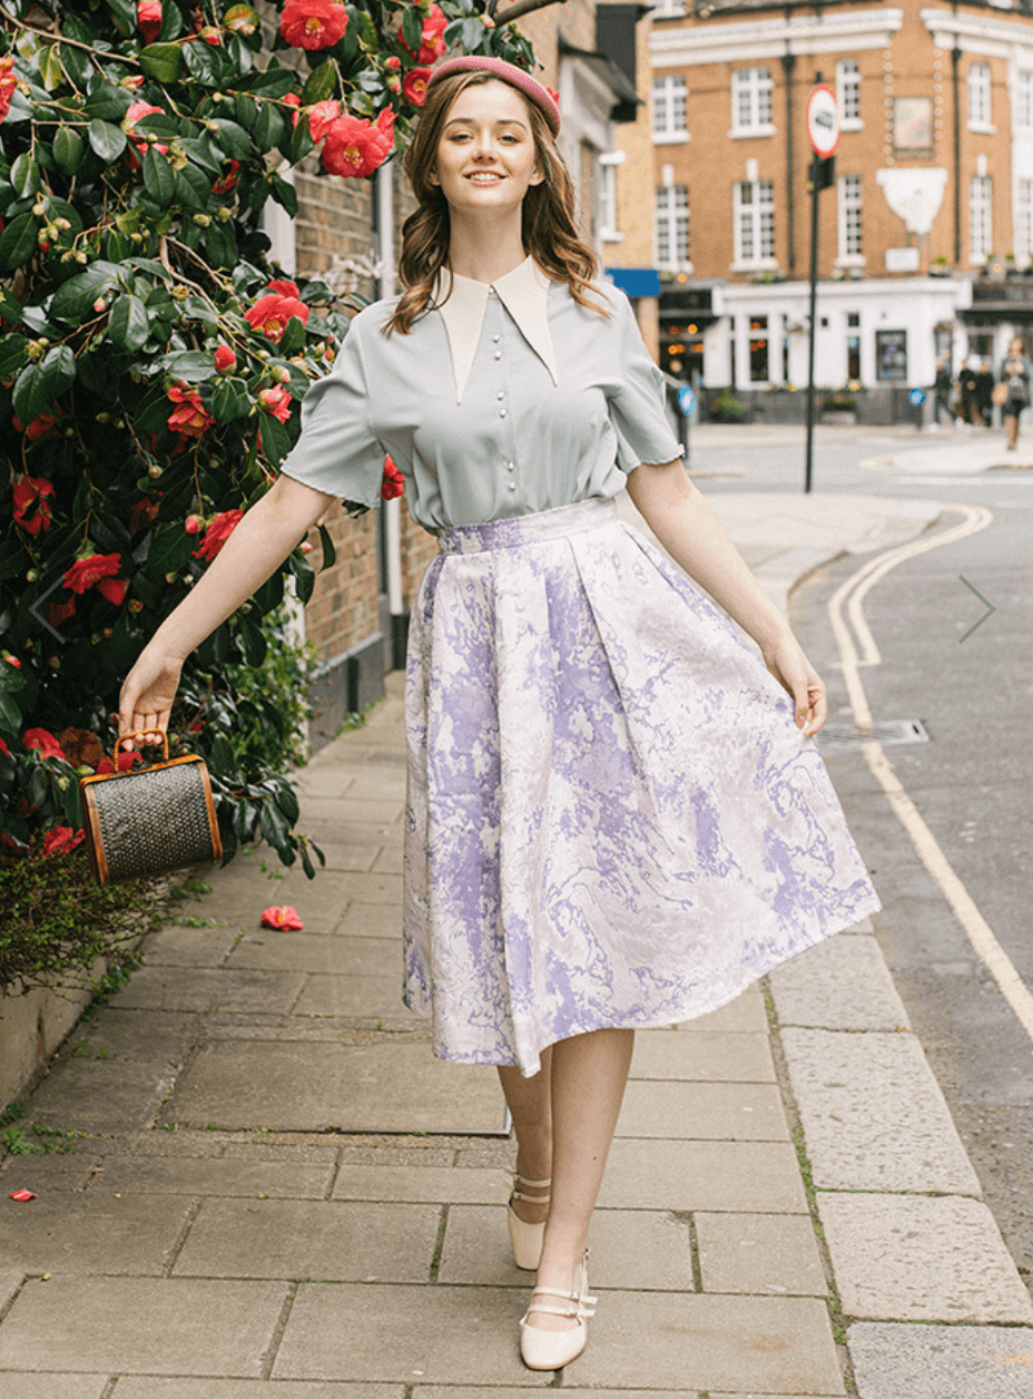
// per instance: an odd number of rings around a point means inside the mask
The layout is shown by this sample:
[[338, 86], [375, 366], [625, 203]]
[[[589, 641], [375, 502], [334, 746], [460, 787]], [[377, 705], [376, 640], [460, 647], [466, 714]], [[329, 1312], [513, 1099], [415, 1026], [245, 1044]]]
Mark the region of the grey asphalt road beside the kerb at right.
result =
[[[801, 488], [802, 429], [798, 443], [731, 431], [741, 436], [727, 445], [711, 429], [699, 434], [692, 466], [721, 473], [702, 476], [703, 490]], [[937, 499], [945, 508], [937, 529], [959, 520], [948, 509], [952, 502], [992, 511], [987, 529], [906, 561], [868, 593], [865, 617], [882, 665], [861, 677], [875, 722], [920, 719], [927, 727], [928, 743], [888, 746], [886, 757], [1033, 988], [1033, 470], [930, 478], [860, 464], [896, 446], [941, 441], [958, 445], [955, 434], [826, 431], [819, 434], [815, 490]], [[846, 722], [850, 708], [826, 602], [861, 562], [840, 560], [821, 569], [793, 597], [797, 634], [829, 684], [830, 715]], [[959, 575], [997, 609], [963, 642], [984, 609]], [[1033, 1041], [921, 866], [860, 750], [829, 748], [826, 761], [874, 869], [886, 961], [987, 1205], [1033, 1286]]]

